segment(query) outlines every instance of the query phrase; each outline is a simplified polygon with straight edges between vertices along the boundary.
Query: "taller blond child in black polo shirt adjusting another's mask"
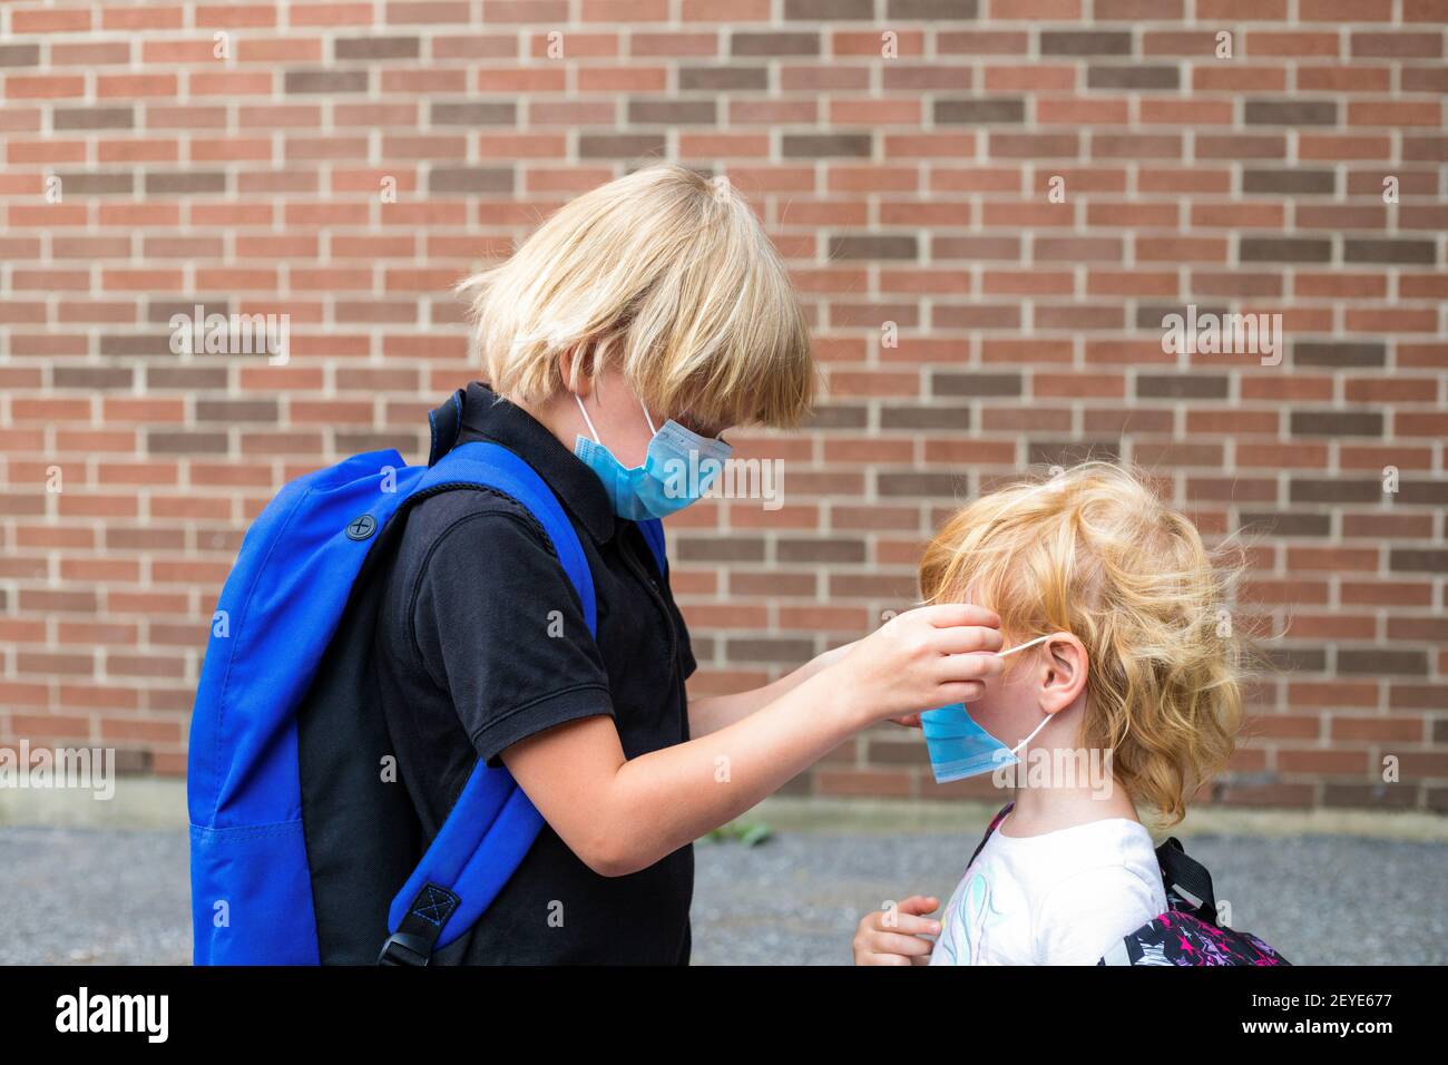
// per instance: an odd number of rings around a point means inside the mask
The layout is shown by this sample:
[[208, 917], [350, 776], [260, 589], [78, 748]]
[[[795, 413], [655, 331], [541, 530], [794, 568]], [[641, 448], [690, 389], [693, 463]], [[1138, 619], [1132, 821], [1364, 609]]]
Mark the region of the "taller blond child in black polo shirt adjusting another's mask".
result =
[[[375, 639], [426, 846], [476, 759], [546, 824], [437, 962], [689, 959], [692, 840], [876, 720], [975, 698], [996, 617], [901, 614], [757, 691], [689, 701], [688, 629], [637, 525], [705, 490], [730, 426], [788, 426], [814, 369], [804, 314], [749, 206], [675, 165], [578, 197], [463, 284], [488, 385], [459, 443], [527, 461], [588, 556], [598, 638], [530, 514], [471, 490], [407, 516]], [[691, 461], [692, 459], [692, 461]], [[705, 462], [708, 459], [710, 462]]]

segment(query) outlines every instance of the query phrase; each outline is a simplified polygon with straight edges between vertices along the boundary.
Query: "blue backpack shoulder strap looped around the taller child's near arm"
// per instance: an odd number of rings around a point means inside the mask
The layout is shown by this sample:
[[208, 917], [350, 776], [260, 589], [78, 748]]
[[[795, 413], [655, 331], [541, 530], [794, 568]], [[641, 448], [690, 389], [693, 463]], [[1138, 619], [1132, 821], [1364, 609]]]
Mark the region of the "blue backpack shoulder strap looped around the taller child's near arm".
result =
[[[449, 451], [414, 491], [446, 487], [494, 488], [526, 507], [543, 526], [597, 636], [594, 578], [584, 546], [562, 504], [542, 477], [497, 443], [473, 442]], [[479, 761], [388, 913], [391, 936], [378, 964], [426, 965], [434, 951], [462, 936], [482, 916], [523, 862], [543, 827], [543, 816], [505, 768]]]

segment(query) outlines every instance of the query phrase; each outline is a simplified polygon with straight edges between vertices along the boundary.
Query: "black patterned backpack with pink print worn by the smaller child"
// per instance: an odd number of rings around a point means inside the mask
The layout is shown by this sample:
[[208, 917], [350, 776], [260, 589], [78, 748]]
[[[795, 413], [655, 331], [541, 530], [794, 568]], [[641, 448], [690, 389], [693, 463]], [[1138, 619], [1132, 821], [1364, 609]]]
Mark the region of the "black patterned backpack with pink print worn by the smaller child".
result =
[[[1005, 820], [1015, 803], [1006, 803], [990, 819], [980, 839], [976, 856], [990, 833]], [[1153, 917], [1140, 929], [1106, 951], [1098, 965], [1290, 965], [1286, 958], [1250, 932], [1237, 932], [1216, 920], [1216, 893], [1212, 874], [1200, 862], [1187, 858], [1182, 842], [1171, 836], [1157, 848], [1161, 884], [1167, 893], [1166, 913]], [[1197, 898], [1192, 903], [1186, 895]]]

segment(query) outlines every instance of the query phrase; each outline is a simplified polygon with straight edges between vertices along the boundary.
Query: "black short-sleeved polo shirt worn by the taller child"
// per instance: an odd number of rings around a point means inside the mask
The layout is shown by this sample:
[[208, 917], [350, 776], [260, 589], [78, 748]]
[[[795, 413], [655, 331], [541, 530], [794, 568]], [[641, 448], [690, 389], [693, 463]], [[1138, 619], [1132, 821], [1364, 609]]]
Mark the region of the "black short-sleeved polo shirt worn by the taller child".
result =
[[[398, 771], [430, 843], [479, 758], [565, 722], [614, 719], [624, 755], [689, 738], [683, 619], [639, 527], [598, 477], [521, 407], [469, 385], [458, 443], [526, 459], [568, 511], [598, 600], [589, 635], [572, 584], [513, 500], [453, 490], [407, 514], [375, 653]], [[568, 767], [557, 767], [560, 774]], [[688, 964], [694, 848], [599, 877], [547, 824], [473, 929], [437, 964]]]

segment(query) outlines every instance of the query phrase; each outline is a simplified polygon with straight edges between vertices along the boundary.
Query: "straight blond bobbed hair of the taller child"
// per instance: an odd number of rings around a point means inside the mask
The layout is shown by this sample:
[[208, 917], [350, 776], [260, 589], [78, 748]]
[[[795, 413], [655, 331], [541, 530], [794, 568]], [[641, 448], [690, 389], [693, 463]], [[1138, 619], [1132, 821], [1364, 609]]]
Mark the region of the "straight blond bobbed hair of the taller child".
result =
[[814, 396], [804, 310], [727, 180], [657, 164], [563, 206], [505, 262], [458, 285], [494, 390], [543, 401], [623, 369], [650, 412], [795, 425]]

